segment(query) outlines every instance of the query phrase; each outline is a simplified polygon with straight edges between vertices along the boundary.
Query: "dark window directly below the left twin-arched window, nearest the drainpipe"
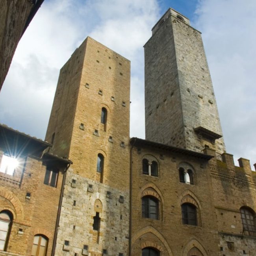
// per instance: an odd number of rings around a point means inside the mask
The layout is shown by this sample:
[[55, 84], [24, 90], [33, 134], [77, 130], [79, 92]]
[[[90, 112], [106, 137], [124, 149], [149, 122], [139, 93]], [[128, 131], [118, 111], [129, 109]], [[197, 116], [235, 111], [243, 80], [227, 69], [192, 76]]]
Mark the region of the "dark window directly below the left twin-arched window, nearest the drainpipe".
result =
[[158, 199], [151, 196], [142, 198], [142, 217], [158, 219]]

